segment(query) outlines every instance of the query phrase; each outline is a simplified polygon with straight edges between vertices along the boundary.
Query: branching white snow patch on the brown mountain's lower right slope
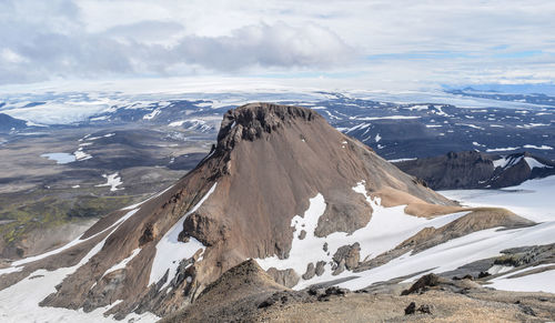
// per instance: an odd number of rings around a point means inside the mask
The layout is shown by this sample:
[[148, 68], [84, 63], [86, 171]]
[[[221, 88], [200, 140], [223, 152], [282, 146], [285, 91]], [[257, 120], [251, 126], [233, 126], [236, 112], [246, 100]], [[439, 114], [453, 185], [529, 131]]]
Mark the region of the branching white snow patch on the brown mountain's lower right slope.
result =
[[[293, 269], [301, 275], [306, 271], [309, 263], [315, 265], [317, 261], [324, 261], [326, 263], [324, 265], [324, 274], [309, 281], [301, 280], [294, 287], [299, 290], [314, 283], [335, 280], [351, 274], [351, 272], [346, 271], [341, 275], [332, 275], [330, 263], [333, 261], [333, 254], [340, 246], [359, 242], [361, 245], [361, 259], [372, 259], [394, 249], [401, 242], [426, 226], [440, 228], [468, 213], [460, 212], [434, 219], [417, 218], [405, 214], [405, 205], [394, 208], [381, 206], [380, 199], [371, 199], [367, 195], [364, 182], [357, 183], [353, 188], [353, 191], [363, 194], [366, 202], [374, 210], [370, 222], [364, 228], [356, 230], [352, 234], [334, 232], [325, 238], [315, 236], [314, 231], [319, 219], [326, 208], [324, 196], [317, 193], [314, 198], [310, 199], [310, 205], [304, 215], [295, 215], [291, 220], [291, 226], [295, 231], [289, 258], [281, 260], [276, 255], [273, 255], [265, 259], [256, 259], [259, 264], [264, 270], [269, 270], [270, 268], [278, 270]], [[299, 239], [301, 230], [306, 232], [303, 240]], [[323, 250], [324, 243], [327, 243], [329, 252]]]

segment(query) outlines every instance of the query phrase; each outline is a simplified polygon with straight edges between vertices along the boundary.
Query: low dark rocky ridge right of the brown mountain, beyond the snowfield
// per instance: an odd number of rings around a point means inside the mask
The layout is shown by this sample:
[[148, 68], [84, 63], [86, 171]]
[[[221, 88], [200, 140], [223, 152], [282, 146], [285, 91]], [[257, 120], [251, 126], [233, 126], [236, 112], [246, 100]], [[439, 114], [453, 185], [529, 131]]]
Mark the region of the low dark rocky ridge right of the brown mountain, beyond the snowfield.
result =
[[[395, 163], [402, 171], [423, 180], [433, 190], [506, 188], [526, 180], [555, 174], [555, 162], [527, 152], [505, 155], [506, 164], [495, 166], [503, 157], [476, 151]], [[525, 158], [546, 165], [531, 169]]]

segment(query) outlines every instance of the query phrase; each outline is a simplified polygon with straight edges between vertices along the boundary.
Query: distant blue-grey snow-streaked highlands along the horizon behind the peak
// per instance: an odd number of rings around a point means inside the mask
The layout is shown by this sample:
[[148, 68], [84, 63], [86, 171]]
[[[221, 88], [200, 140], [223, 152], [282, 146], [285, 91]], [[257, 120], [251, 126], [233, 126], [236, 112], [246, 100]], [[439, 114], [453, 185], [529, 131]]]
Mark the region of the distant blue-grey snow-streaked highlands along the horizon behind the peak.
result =
[[[514, 153], [531, 151], [555, 159], [554, 100], [547, 95], [502, 100], [502, 93], [452, 90], [415, 93], [410, 103], [394, 94], [307, 91], [299, 93], [213, 93], [155, 97], [107, 97], [88, 93], [67, 97], [10, 98], [0, 112], [36, 124], [60, 127], [168, 127], [215, 138], [219, 115], [249, 101], [271, 98], [283, 104], [319, 111], [334, 128], [372, 147], [387, 160], [427, 158], [450, 151]], [[485, 95], [485, 97], [484, 97]], [[483, 98], [484, 97], [484, 98]], [[497, 99], [500, 97], [500, 99]], [[77, 98], [77, 99], [75, 99]], [[195, 99], [196, 98], [196, 99]], [[202, 98], [202, 99], [199, 99]], [[404, 97], [403, 97], [404, 98]], [[34, 99], [37, 101], [29, 100]], [[21, 100], [21, 101], [18, 101]], [[423, 101], [428, 100], [428, 101]], [[528, 101], [527, 101], [528, 100]], [[36, 104], [33, 104], [36, 103]], [[17, 133], [16, 133], [17, 134]]]

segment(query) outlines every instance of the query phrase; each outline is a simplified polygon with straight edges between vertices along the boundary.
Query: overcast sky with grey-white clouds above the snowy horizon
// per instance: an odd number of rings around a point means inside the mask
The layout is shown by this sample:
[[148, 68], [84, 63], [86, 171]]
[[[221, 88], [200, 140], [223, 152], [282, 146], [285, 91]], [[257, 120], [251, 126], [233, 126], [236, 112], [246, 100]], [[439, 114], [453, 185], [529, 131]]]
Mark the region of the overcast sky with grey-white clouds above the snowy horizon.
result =
[[0, 0], [0, 87], [170, 77], [553, 83], [555, 1]]

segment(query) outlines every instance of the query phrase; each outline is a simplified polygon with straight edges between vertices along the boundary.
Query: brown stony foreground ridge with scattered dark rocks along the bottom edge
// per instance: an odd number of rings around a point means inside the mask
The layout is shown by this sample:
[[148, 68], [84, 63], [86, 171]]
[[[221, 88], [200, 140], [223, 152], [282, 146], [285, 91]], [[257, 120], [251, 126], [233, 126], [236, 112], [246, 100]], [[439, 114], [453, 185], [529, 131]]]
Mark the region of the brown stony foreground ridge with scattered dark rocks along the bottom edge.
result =
[[210, 284], [188, 309], [161, 320], [181, 322], [546, 322], [555, 295], [495, 291], [471, 275], [428, 274], [357, 291], [315, 285], [292, 291], [253, 260]]

